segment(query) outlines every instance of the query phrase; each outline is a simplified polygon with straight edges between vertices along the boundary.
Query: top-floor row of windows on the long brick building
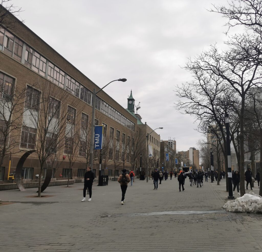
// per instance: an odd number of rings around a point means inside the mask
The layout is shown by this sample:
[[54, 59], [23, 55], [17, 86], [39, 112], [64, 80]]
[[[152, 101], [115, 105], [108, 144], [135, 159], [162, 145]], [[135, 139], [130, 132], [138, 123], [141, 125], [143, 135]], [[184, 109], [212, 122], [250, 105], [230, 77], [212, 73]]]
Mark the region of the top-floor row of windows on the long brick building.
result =
[[[52, 81], [56, 85], [91, 105], [92, 93], [90, 90], [62, 71], [55, 64], [48, 61], [26, 43], [1, 27], [0, 51], [4, 51], [10, 57], [15, 58], [19, 62], [25, 64], [27, 67], [47, 78], [49, 81]], [[12, 92], [10, 94], [12, 94]], [[124, 125], [128, 129], [135, 131], [135, 124], [132, 121], [97, 96], [95, 107], [113, 120]]]

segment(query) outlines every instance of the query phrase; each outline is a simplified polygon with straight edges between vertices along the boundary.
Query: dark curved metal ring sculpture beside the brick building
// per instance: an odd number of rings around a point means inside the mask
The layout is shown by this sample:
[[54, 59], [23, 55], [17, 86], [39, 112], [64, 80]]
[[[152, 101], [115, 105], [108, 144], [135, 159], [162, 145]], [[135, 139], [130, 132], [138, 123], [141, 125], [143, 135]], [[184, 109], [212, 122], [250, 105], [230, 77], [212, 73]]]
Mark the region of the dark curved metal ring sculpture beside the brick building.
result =
[[[22, 168], [23, 168], [26, 158], [28, 158], [28, 156], [32, 154], [33, 152], [35, 152], [35, 150], [25, 152], [25, 154], [21, 156], [21, 158], [19, 159], [17, 163], [17, 168], [15, 170], [15, 181], [20, 191], [26, 191], [22, 183]], [[46, 169], [46, 178], [41, 186], [41, 192], [44, 191], [48, 187], [51, 181], [51, 178], [52, 178], [53, 169], [51, 165], [51, 160], [49, 158], [48, 160], [46, 160], [46, 168], [47, 168]]]

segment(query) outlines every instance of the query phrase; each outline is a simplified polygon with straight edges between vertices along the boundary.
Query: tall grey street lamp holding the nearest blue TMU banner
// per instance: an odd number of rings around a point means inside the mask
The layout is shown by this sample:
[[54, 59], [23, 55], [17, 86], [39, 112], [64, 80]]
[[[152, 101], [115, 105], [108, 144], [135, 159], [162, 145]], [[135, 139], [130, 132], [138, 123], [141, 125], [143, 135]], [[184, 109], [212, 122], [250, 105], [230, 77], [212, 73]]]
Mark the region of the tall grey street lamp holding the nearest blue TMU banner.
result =
[[[118, 80], [112, 80], [110, 81], [127, 81], [127, 79], [118, 79]], [[92, 121], [91, 121], [91, 137], [90, 137], [90, 153], [89, 153], [89, 166], [91, 167], [91, 170], [93, 169], [93, 156], [94, 156], [94, 137], [95, 137], [95, 100], [96, 100], [96, 94], [99, 93], [103, 88], [105, 88], [107, 85], [110, 83], [106, 84], [104, 87], [100, 88], [97, 92], [96, 89], [94, 88], [93, 91], [93, 97], [92, 97]], [[101, 167], [99, 167], [99, 176], [100, 176], [100, 170]]]

